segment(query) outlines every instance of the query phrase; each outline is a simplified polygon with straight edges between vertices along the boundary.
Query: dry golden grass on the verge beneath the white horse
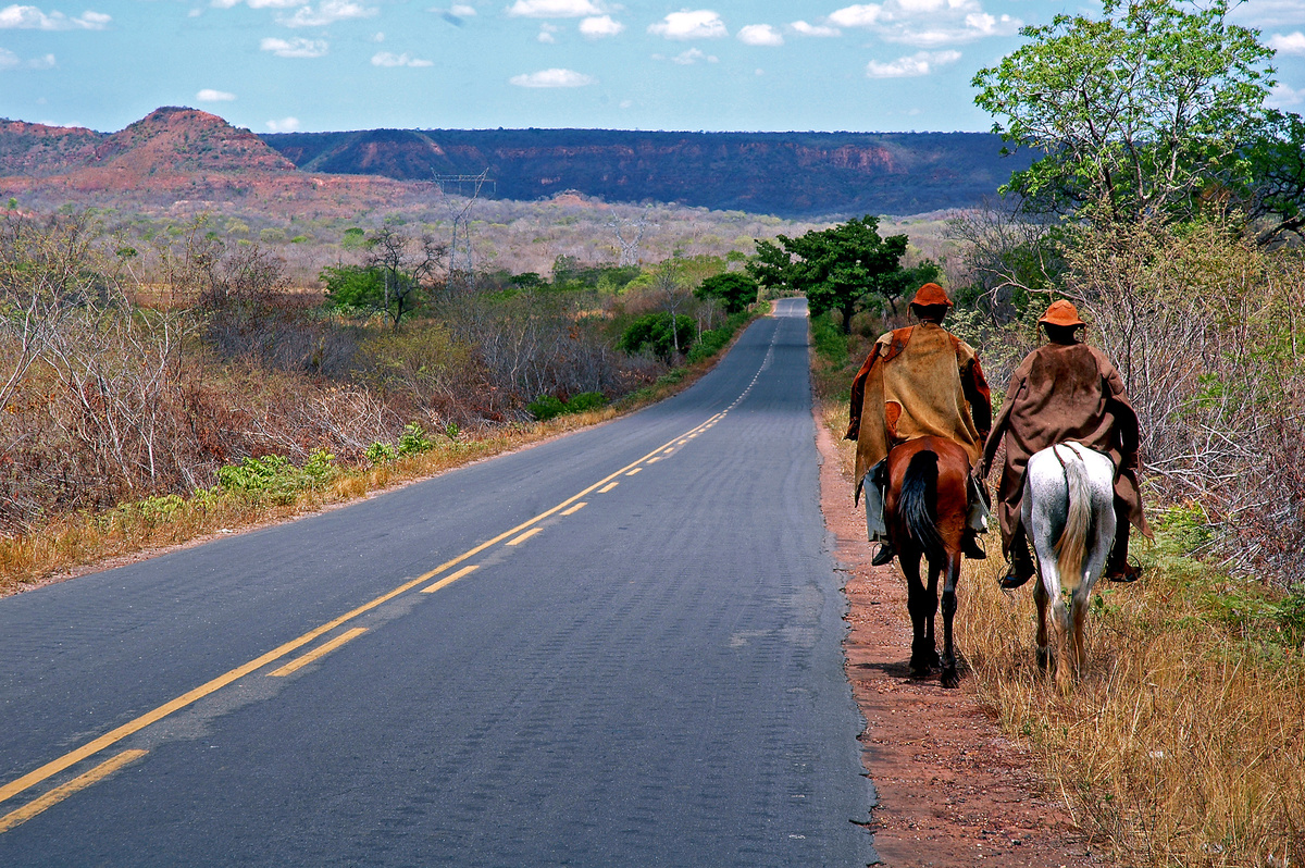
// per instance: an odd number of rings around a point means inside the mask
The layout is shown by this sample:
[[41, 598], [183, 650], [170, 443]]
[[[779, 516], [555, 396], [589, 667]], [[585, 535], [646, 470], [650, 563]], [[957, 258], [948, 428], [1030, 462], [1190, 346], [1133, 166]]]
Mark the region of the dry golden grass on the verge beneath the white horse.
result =
[[[822, 418], [839, 436], [847, 407], [826, 403]], [[842, 441], [848, 476], [853, 450]], [[1037, 668], [1032, 594], [997, 587], [1000, 556], [967, 561], [957, 642], [968, 677], [1116, 864], [1305, 864], [1305, 630], [1284, 627], [1262, 583], [1188, 547], [1171, 522], [1134, 547], [1142, 581], [1098, 589], [1088, 668], [1070, 689]]]

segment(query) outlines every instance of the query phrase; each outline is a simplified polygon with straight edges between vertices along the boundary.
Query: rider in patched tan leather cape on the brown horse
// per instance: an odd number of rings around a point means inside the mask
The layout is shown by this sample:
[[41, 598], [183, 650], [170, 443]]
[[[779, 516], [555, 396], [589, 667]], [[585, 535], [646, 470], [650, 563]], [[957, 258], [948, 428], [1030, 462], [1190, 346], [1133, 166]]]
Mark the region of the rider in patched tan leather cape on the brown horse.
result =
[[[856, 493], [865, 492], [865, 526], [880, 543], [876, 566], [897, 553], [883, 522], [885, 461], [893, 446], [934, 435], [960, 445], [971, 466], [983, 454], [992, 424], [992, 397], [979, 356], [942, 328], [951, 299], [937, 283], [925, 283], [911, 299], [919, 325], [897, 329], [874, 342], [852, 382], [851, 424], [856, 440]], [[867, 476], [869, 483], [865, 484]], [[987, 530], [988, 508], [977, 482], [971, 484], [964, 553], [987, 557], [977, 535]]]

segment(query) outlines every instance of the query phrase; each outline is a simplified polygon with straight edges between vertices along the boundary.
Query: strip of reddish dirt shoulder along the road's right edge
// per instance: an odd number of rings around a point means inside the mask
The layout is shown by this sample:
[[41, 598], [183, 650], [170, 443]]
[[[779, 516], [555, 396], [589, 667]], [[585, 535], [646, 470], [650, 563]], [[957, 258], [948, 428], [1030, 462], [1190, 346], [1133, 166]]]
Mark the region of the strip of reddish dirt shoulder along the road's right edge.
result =
[[[1002, 735], [962, 668], [960, 687], [912, 679], [906, 583], [895, 565], [870, 566], [865, 517], [834, 439], [816, 418], [821, 505], [847, 572], [844, 667], [865, 717], [863, 761], [880, 794], [874, 847], [893, 868], [1094, 864], [1032, 757]], [[941, 623], [940, 623], [941, 629]]]

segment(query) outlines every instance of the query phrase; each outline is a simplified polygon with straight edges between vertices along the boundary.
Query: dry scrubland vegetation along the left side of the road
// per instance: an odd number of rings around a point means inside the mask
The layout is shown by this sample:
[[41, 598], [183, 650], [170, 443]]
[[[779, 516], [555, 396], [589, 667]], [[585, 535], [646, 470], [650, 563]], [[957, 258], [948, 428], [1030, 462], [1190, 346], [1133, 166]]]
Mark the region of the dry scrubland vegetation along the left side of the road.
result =
[[[0, 222], [7, 589], [609, 416], [719, 351], [757, 300], [705, 253], [459, 273], [401, 222], [346, 231], [305, 291], [274, 244], [226, 230]], [[750, 298], [694, 292], [728, 274]]]

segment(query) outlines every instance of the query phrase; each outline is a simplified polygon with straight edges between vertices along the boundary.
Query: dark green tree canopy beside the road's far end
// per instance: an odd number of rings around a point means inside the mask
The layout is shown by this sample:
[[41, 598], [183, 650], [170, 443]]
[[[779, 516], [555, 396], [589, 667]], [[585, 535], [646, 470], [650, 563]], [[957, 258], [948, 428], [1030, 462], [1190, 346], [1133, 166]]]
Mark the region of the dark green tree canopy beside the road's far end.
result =
[[880, 219], [867, 214], [800, 238], [778, 235], [779, 244], [758, 240], [748, 273], [767, 288], [804, 294], [812, 316], [839, 311], [843, 332], [851, 333], [859, 309], [889, 304], [895, 311], [910, 281], [900, 264], [906, 235], [880, 238], [878, 227]]

